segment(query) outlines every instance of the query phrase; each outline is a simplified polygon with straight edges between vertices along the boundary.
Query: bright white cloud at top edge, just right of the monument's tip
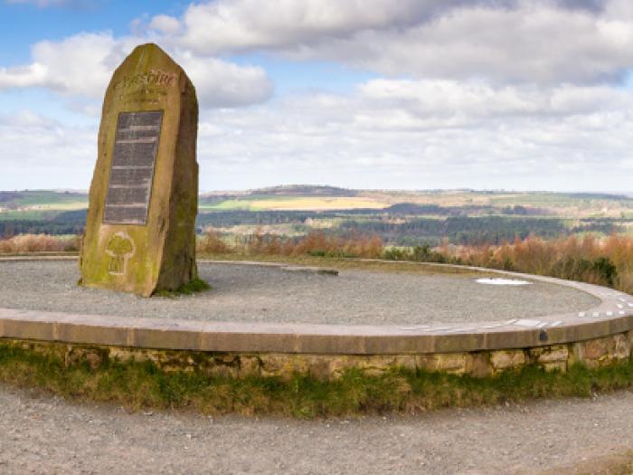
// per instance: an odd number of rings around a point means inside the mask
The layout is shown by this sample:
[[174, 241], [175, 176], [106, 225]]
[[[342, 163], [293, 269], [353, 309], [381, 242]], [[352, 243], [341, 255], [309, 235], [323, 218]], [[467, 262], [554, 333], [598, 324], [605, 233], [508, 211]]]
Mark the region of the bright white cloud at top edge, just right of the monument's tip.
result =
[[[432, 0], [428, 4], [438, 4]], [[287, 47], [318, 42], [355, 30], [407, 23], [415, 0], [220, 0], [191, 5], [184, 14], [182, 43], [203, 54]]]

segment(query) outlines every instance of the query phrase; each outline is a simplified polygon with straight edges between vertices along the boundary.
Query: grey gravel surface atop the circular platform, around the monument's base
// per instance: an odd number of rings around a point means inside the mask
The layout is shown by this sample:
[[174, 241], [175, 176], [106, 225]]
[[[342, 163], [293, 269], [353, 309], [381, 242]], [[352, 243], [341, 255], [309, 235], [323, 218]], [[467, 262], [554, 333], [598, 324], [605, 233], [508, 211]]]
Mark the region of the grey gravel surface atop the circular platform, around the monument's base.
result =
[[252, 265], [199, 267], [212, 290], [143, 299], [77, 287], [76, 262], [2, 262], [0, 307], [215, 321], [415, 325], [542, 317], [600, 303], [559, 285], [482, 285], [468, 274], [341, 271], [331, 276]]

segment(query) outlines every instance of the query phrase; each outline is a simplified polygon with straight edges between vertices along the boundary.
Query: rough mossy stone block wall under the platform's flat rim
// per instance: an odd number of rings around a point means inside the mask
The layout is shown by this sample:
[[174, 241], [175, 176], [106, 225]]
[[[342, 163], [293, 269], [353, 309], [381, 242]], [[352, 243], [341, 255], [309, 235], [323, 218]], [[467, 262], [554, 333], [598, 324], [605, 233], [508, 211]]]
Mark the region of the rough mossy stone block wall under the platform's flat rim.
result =
[[633, 331], [565, 345], [432, 355], [305, 355], [281, 353], [215, 353], [201, 351], [69, 345], [59, 342], [1, 339], [0, 344], [23, 347], [35, 353], [61, 358], [67, 366], [87, 363], [93, 368], [106, 361], [151, 361], [164, 371], [202, 371], [234, 378], [248, 376], [312, 375], [336, 379], [345, 369], [364, 375], [381, 375], [396, 368], [420, 368], [476, 377], [497, 375], [523, 366], [547, 371], [566, 371], [576, 362], [590, 368], [608, 366], [631, 356]]

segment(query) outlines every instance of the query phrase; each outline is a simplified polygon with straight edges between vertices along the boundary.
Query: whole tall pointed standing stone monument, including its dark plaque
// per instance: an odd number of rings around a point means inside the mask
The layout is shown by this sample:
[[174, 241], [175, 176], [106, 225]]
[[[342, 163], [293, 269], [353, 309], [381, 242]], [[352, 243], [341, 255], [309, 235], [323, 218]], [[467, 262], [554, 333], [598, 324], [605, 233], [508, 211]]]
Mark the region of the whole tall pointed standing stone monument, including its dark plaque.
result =
[[198, 102], [156, 44], [118, 66], [103, 101], [80, 285], [145, 297], [197, 278]]

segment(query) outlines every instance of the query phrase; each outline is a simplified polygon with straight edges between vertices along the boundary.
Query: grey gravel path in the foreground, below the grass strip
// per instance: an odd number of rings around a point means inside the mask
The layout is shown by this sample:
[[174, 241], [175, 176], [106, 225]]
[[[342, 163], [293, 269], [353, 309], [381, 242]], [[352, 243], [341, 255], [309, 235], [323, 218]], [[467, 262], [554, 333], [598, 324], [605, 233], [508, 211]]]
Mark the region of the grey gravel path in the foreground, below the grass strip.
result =
[[[633, 448], [633, 393], [297, 421], [127, 413], [0, 385], [0, 472], [539, 473]], [[591, 473], [599, 472], [593, 467]]]

